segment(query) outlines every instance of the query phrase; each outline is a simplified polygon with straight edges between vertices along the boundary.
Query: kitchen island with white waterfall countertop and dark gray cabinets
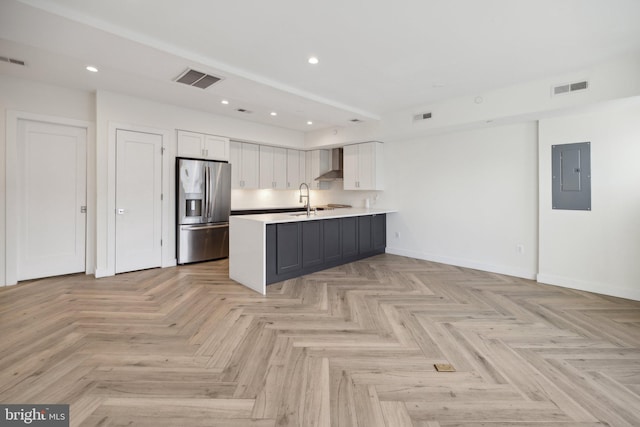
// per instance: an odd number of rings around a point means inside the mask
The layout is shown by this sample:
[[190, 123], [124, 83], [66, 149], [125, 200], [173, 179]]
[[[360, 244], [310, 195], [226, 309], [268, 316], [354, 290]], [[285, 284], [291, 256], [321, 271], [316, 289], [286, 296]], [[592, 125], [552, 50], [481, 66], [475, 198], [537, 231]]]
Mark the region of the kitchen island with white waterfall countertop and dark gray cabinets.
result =
[[267, 285], [384, 253], [393, 209], [335, 209], [231, 216], [229, 277], [261, 294]]

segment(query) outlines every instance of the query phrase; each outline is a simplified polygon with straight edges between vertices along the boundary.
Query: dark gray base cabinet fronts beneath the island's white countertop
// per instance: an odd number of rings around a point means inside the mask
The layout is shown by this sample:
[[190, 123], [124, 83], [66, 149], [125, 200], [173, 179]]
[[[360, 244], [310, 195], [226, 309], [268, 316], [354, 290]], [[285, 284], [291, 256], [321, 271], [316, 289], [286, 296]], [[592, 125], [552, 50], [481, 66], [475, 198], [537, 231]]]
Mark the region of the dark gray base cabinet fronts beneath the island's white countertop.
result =
[[266, 283], [384, 253], [386, 215], [267, 224]]

